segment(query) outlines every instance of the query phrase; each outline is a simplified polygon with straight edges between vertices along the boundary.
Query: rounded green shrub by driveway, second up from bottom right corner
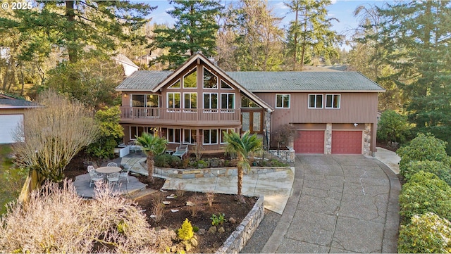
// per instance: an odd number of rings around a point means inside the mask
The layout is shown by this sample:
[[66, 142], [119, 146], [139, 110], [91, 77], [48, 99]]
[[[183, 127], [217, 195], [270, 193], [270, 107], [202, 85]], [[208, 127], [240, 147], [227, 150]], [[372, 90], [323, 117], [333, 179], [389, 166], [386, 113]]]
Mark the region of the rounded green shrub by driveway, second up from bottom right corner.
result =
[[400, 193], [402, 224], [414, 215], [434, 212], [447, 220], [451, 218], [451, 187], [435, 174], [420, 171], [414, 174]]

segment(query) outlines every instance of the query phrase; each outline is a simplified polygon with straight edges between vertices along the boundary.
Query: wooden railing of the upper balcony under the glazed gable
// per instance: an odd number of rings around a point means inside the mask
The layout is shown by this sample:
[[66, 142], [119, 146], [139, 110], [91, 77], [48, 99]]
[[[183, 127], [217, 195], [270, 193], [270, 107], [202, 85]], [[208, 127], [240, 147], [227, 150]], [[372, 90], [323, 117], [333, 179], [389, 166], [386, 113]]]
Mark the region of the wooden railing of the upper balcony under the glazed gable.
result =
[[142, 108], [121, 107], [121, 119], [145, 119], [146, 122], [240, 122], [240, 109]]

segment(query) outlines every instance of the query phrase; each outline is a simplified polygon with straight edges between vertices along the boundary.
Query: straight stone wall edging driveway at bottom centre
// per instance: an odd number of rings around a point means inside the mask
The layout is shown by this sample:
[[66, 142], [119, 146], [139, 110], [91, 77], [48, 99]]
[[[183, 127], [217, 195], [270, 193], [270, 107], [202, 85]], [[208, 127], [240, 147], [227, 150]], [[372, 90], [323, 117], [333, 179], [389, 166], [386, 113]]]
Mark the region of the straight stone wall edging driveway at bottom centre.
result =
[[240, 250], [246, 246], [247, 241], [252, 237], [254, 231], [259, 227], [264, 217], [263, 207], [264, 197], [261, 196], [254, 204], [254, 208], [246, 215], [241, 224], [232, 232], [221, 248], [216, 250], [221, 253], [240, 253]]

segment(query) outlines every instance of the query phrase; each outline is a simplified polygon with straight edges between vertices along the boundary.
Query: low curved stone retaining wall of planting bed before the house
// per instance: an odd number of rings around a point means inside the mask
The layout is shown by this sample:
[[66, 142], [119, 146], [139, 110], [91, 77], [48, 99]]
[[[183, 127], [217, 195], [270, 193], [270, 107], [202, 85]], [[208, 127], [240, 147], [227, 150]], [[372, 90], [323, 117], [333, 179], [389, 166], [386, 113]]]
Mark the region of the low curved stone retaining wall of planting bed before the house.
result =
[[[250, 170], [244, 170], [245, 174], [262, 174], [268, 172], [278, 172], [290, 169], [290, 167], [251, 167]], [[213, 167], [193, 170], [180, 170], [173, 168], [155, 167], [154, 175], [172, 178], [202, 178], [202, 177], [230, 177], [237, 175], [236, 167]]]

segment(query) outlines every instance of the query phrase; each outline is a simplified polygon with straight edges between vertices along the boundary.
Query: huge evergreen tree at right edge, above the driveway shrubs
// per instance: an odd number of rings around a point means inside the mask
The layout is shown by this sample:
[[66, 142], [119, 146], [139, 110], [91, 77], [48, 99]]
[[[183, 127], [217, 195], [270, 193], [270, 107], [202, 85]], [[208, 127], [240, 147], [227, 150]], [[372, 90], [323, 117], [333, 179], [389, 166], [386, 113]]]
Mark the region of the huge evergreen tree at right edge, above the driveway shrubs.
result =
[[[383, 41], [393, 77], [407, 99], [409, 120], [419, 132], [451, 141], [451, 2], [388, 5]], [[449, 148], [448, 148], [449, 149]]]

